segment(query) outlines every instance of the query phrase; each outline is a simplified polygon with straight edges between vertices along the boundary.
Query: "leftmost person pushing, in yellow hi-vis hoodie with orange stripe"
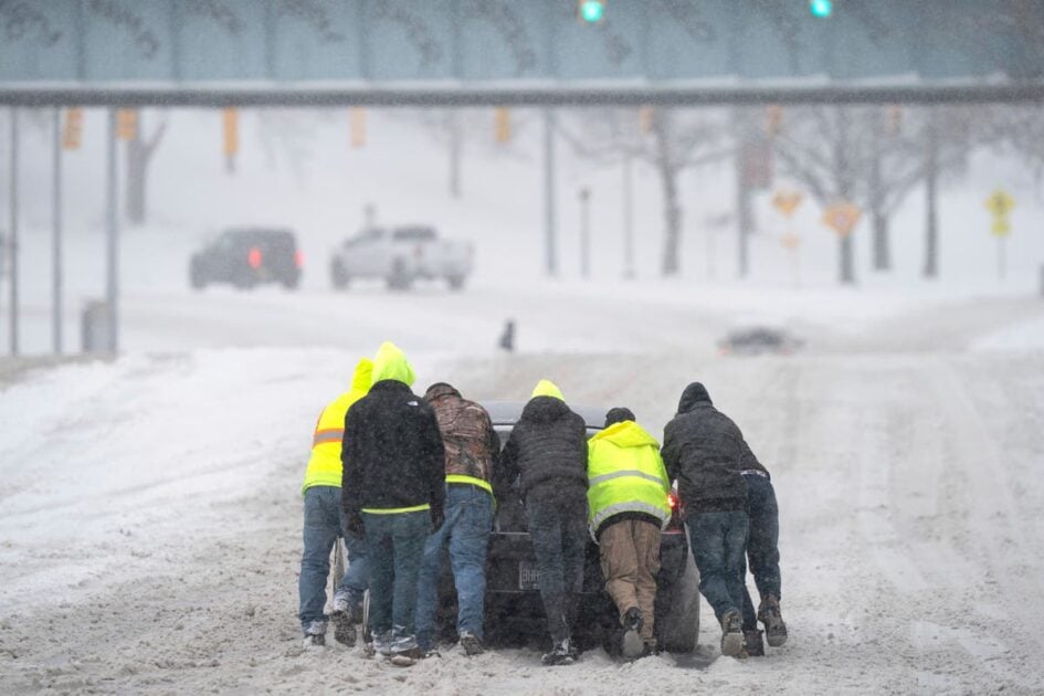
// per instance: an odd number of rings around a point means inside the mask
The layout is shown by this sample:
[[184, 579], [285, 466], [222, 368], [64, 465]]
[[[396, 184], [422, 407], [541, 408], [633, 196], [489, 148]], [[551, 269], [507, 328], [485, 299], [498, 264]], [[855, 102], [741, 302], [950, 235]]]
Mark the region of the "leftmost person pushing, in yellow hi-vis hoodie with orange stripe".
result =
[[337, 579], [334, 591], [334, 637], [355, 645], [355, 624], [362, 616], [362, 598], [369, 581], [366, 540], [348, 534], [341, 508], [340, 453], [345, 435], [345, 414], [370, 389], [373, 363], [362, 358], [356, 365], [351, 389], [328, 403], [319, 414], [312, 435], [312, 457], [300, 494], [305, 499], [304, 552], [297, 581], [300, 609], [298, 618], [306, 645], [326, 644], [326, 579], [330, 572], [330, 551], [344, 537], [348, 547], [348, 570]]

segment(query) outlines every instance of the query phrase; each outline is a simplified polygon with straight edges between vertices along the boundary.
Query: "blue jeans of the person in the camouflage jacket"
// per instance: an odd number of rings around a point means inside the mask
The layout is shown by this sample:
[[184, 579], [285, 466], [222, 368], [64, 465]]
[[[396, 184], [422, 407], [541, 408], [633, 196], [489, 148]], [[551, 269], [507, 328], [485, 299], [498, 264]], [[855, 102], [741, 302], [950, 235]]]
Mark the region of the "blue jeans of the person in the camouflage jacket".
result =
[[470, 484], [446, 484], [446, 518], [424, 544], [424, 563], [416, 592], [416, 640], [424, 650], [435, 646], [439, 576], [447, 546], [456, 587], [456, 631], [482, 637], [486, 550], [492, 529], [493, 496]]

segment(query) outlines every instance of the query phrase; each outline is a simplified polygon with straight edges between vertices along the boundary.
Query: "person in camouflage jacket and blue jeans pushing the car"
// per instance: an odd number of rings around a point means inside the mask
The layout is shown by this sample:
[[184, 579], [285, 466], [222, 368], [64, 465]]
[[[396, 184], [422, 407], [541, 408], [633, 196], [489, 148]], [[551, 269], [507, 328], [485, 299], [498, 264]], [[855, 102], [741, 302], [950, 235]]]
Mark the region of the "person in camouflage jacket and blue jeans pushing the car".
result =
[[500, 441], [484, 408], [439, 382], [424, 392], [435, 411], [446, 460], [445, 521], [424, 546], [416, 598], [416, 637], [424, 651], [435, 647], [439, 576], [446, 548], [456, 588], [456, 631], [468, 655], [483, 652], [482, 619], [486, 595], [486, 549], [493, 531], [493, 471]]

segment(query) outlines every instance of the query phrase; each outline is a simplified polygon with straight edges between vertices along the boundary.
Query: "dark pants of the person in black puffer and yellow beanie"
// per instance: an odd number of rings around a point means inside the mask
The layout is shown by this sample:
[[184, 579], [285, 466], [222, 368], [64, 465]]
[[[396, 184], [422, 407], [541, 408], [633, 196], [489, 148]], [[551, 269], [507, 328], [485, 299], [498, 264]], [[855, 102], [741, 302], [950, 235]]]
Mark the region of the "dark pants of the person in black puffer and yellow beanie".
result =
[[557, 644], [570, 636], [579, 611], [588, 544], [587, 494], [579, 486], [544, 486], [527, 496], [526, 515], [548, 633]]

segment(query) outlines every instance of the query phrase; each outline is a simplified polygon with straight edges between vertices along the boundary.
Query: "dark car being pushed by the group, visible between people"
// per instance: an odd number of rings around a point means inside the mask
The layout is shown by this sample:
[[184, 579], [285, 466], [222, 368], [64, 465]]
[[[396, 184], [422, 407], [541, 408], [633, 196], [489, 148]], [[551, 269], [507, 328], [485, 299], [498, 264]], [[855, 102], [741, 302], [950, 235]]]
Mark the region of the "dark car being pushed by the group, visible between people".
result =
[[[507, 442], [521, 415], [523, 402], [483, 404], [493, 425]], [[583, 418], [588, 437], [602, 429], [604, 409], [570, 407]], [[699, 633], [699, 576], [688, 553], [677, 496], [671, 495], [672, 517], [661, 537], [661, 571], [656, 578], [655, 629], [661, 650], [690, 653]], [[453, 640], [456, 600], [447, 562], [439, 583], [440, 637]], [[547, 640], [547, 620], [537, 579], [537, 566], [526, 513], [517, 487], [497, 500], [494, 530], [486, 560], [485, 641], [489, 645], [537, 645]], [[619, 654], [620, 621], [612, 599], [604, 590], [598, 545], [590, 540], [583, 568], [583, 590], [573, 639], [581, 650], [601, 645]]]

